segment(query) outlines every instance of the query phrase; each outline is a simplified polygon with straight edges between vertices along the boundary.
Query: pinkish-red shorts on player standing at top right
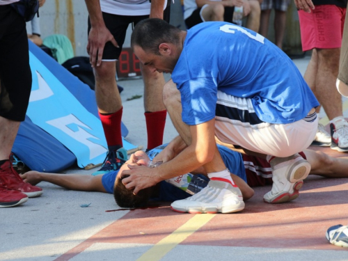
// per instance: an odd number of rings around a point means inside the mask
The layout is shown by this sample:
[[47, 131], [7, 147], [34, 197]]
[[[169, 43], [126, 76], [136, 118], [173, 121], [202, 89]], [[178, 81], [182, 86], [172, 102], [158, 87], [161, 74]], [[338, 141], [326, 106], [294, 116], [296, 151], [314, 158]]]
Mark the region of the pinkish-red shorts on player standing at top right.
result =
[[346, 8], [333, 5], [315, 6], [311, 13], [299, 10], [303, 52], [340, 48], [345, 14]]

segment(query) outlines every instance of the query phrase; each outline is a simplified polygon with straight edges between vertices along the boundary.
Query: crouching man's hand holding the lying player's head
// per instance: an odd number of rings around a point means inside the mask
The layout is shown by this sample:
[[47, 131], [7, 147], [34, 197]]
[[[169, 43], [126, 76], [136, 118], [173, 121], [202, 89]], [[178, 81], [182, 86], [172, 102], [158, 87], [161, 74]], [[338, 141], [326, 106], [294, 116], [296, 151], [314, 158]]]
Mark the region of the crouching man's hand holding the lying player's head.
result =
[[155, 186], [155, 184], [161, 181], [157, 176], [155, 168], [139, 165], [127, 166], [129, 170], [122, 171], [120, 177], [124, 177], [122, 183], [127, 189], [134, 189], [134, 195], [141, 191], [141, 189]]

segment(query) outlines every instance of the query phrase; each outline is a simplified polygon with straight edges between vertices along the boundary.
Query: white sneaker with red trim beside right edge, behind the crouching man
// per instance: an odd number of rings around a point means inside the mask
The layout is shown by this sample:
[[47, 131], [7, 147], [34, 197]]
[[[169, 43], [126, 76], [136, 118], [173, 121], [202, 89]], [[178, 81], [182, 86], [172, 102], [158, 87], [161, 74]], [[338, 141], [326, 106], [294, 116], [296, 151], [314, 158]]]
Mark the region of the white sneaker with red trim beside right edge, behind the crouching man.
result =
[[340, 152], [348, 152], [348, 122], [342, 117], [335, 123], [330, 123], [331, 129], [331, 149]]

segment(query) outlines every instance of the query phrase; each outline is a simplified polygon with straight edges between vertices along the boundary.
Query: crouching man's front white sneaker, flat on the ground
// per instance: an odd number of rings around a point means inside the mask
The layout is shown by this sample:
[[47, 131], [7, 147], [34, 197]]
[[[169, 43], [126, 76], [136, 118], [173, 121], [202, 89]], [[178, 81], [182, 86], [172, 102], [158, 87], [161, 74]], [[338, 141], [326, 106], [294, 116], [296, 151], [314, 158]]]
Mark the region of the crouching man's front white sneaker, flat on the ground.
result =
[[191, 214], [216, 212], [232, 213], [244, 209], [242, 192], [228, 182], [210, 180], [207, 187], [184, 200], [171, 204], [175, 212]]

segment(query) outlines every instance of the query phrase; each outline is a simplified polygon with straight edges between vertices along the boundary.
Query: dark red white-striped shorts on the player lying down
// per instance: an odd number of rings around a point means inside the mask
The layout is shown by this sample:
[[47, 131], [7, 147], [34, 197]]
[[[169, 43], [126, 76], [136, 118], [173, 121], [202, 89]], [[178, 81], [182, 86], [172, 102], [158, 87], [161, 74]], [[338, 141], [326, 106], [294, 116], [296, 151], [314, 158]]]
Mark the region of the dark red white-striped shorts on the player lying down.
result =
[[[303, 152], [299, 152], [299, 155], [301, 155], [303, 159], [306, 159], [306, 155]], [[248, 155], [242, 155], [242, 157], [246, 173], [246, 183], [248, 183], [250, 187], [272, 184], [271, 165], [269, 165], [266, 159]]]

